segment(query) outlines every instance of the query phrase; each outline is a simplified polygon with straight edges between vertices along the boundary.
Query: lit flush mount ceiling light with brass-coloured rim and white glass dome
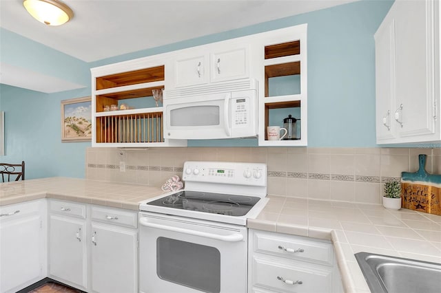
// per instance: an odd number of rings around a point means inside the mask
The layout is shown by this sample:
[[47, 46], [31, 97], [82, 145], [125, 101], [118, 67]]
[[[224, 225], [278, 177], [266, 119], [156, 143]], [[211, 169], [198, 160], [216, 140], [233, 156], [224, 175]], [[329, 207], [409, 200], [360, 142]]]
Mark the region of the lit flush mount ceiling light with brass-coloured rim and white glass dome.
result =
[[69, 6], [59, 0], [23, 0], [29, 14], [46, 25], [62, 25], [74, 17]]

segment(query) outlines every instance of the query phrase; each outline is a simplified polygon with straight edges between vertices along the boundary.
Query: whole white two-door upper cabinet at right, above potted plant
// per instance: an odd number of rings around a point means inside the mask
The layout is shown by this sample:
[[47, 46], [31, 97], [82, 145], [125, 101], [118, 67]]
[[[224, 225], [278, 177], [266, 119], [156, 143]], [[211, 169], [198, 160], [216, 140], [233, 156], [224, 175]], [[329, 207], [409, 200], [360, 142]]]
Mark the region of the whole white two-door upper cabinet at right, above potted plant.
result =
[[441, 140], [438, 1], [396, 1], [375, 34], [378, 144]]

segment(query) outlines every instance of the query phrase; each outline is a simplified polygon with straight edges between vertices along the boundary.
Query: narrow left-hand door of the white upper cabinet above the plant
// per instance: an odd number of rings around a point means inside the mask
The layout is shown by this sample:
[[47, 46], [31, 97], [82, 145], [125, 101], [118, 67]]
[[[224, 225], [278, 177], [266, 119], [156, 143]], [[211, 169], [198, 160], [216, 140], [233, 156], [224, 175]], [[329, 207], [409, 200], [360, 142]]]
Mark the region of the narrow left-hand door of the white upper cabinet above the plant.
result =
[[388, 15], [375, 34], [376, 53], [376, 135], [377, 142], [394, 138], [395, 105], [395, 19]]

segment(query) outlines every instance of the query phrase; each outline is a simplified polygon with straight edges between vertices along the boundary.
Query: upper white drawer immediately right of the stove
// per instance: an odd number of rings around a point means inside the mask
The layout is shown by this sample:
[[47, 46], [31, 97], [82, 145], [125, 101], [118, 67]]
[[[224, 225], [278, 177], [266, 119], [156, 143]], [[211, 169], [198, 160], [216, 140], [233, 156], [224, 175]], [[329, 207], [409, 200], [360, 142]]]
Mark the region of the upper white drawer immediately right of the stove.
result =
[[311, 241], [300, 237], [256, 232], [254, 251], [288, 259], [333, 264], [331, 243]]

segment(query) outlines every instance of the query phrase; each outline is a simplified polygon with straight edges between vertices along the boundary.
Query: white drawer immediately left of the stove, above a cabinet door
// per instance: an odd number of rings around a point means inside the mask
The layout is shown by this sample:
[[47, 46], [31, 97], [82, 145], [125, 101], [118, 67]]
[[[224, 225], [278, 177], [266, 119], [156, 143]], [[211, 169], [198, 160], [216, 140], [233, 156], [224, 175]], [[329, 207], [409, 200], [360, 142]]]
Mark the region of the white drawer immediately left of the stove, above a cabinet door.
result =
[[92, 221], [101, 221], [109, 224], [137, 228], [138, 213], [116, 208], [92, 206]]

